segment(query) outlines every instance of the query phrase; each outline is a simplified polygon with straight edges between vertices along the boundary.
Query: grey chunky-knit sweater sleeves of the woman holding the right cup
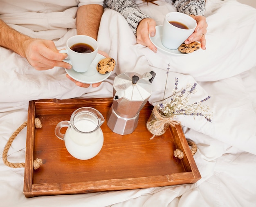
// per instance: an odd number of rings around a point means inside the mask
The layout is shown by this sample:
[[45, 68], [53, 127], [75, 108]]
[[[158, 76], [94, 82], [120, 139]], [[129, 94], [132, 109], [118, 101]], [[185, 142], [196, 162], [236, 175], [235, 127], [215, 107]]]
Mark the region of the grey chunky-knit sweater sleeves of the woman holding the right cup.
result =
[[[205, 0], [165, 0], [166, 2], [174, 2], [178, 12], [193, 15], [204, 15]], [[144, 14], [136, 4], [135, 0], [105, 0], [106, 7], [113, 9], [124, 16], [133, 33], [136, 35], [136, 30], [139, 22], [145, 18], [150, 18]]]

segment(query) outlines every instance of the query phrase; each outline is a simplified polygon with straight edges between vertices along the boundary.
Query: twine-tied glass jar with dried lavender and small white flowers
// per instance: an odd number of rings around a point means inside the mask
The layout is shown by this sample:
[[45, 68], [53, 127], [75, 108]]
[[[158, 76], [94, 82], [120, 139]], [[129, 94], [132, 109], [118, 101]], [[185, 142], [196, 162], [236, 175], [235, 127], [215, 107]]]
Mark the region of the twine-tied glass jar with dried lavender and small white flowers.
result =
[[[166, 77], [166, 85], [169, 73], [169, 65], [167, 68], [167, 77]], [[175, 88], [173, 89], [173, 95], [171, 100], [167, 100], [163, 98], [161, 104], [158, 104], [154, 107], [148, 121], [147, 121], [147, 129], [153, 134], [153, 137], [159, 136], [166, 132], [167, 128], [171, 126], [175, 126], [175, 124], [180, 124], [179, 121], [173, 119], [177, 115], [185, 115], [185, 116], [193, 116], [198, 117], [202, 116], [207, 121], [211, 122], [212, 112], [207, 105], [203, 105], [204, 101], [207, 101], [210, 96], [205, 99], [195, 102], [193, 104], [189, 104], [189, 99], [191, 94], [196, 93], [196, 83], [191, 85], [188, 84], [186, 88], [182, 88], [181, 91], [178, 91], [177, 88], [178, 79], [175, 78]], [[165, 96], [166, 86], [164, 89]], [[153, 139], [151, 137], [151, 139]]]

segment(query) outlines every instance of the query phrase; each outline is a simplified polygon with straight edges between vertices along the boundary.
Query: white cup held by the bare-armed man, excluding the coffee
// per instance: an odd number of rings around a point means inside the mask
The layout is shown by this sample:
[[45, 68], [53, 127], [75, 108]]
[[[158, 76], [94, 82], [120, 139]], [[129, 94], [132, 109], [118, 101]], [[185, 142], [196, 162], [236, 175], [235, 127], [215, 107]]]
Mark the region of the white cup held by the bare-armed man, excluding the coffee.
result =
[[[71, 47], [78, 43], [84, 43], [90, 45], [94, 51], [91, 53], [78, 53], [71, 49]], [[86, 35], [75, 35], [67, 40], [67, 48], [59, 51], [59, 53], [67, 53], [68, 57], [64, 59], [64, 62], [72, 65], [73, 70], [79, 73], [83, 73], [89, 70], [92, 61], [98, 53], [98, 42], [92, 37]]]

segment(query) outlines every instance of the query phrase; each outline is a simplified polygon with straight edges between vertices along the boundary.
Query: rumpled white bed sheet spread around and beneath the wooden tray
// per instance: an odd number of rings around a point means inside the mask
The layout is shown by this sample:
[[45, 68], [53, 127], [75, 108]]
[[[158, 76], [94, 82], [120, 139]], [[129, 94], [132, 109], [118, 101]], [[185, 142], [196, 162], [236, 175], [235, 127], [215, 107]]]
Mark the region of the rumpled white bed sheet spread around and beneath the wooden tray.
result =
[[[145, 12], [155, 15], [157, 24], [161, 24], [164, 13], [172, 9], [160, 2], [158, 8], [161, 9], [157, 13], [155, 6], [137, 2]], [[101, 49], [116, 59], [117, 74], [128, 71], [143, 74], [150, 70], [157, 73], [153, 81], [153, 95], [150, 97], [153, 105], [162, 99], [168, 63], [172, 72], [169, 74], [167, 95], [171, 95], [174, 79], [178, 77], [180, 88], [187, 83], [198, 83], [196, 101], [206, 95], [211, 96], [207, 104], [213, 109], [212, 123], [206, 123], [203, 119], [179, 118], [186, 138], [198, 146], [194, 159], [202, 178], [197, 183], [25, 198], [24, 168], [7, 167], [1, 159], [0, 206], [255, 206], [256, 59], [252, 48], [256, 45], [256, 9], [235, 0], [208, 0], [206, 16], [209, 24], [207, 50], [178, 59], [159, 52], [155, 54], [136, 44], [124, 18], [109, 9], [103, 14], [98, 38]], [[73, 35], [73, 32], [69, 35]], [[34, 70], [21, 72], [16, 66], [26, 64], [24, 60], [11, 52], [8, 57], [16, 59], [18, 63], [6, 61], [0, 67], [1, 157], [11, 134], [27, 120], [29, 100], [112, 96], [115, 75], [99, 88], [79, 88], [65, 78], [62, 68], [44, 73]], [[11, 145], [8, 153], [10, 162], [25, 161], [26, 129], [18, 134]]]

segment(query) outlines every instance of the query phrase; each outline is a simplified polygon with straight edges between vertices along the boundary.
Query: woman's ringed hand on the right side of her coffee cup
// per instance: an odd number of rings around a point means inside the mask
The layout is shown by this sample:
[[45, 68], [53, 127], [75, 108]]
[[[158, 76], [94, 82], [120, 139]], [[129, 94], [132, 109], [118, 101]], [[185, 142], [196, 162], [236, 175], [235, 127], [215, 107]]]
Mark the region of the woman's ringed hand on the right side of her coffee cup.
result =
[[185, 40], [185, 44], [189, 44], [194, 41], [198, 41], [201, 43], [201, 48], [205, 50], [205, 45], [206, 45], [206, 39], [205, 35], [207, 33], [207, 22], [206, 18], [204, 16], [195, 16], [195, 15], [190, 15], [193, 19], [196, 20], [197, 26], [195, 28], [195, 31], [193, 32], [192, 35], [189, 36], [187, 40]]

